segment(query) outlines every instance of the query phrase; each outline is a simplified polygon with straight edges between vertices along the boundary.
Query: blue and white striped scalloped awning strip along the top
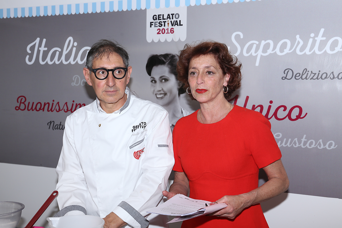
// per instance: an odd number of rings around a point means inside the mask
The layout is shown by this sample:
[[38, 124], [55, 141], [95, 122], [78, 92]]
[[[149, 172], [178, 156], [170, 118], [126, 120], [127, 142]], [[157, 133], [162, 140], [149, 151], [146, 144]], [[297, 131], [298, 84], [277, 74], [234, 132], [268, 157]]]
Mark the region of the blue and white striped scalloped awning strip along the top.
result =
[[[38, 17], [126, 10], [159, 9], [179, 6], [209, 5], [257, 0], [114, 0], [64, 5], [0, 9], [0, 18]], [[261, 1], [261, 0], [258, 0]]]

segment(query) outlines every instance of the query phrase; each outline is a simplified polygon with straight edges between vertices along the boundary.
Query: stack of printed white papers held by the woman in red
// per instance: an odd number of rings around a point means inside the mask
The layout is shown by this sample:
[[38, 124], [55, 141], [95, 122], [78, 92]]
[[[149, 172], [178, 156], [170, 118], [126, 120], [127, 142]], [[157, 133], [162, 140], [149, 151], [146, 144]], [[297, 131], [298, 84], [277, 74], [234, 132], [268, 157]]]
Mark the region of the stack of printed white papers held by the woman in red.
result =
[[225, 203], [217, 203], [206, 206], [206, 203], [209, 205], [211, 202], [205, 200], [195, 200], [182, 194], [177, 194], [165, 203], [148, 210], [147, 213], [177, 216], [168, 222], [174, 223], [195, 218], [197, 216], [210, 214], [227, 206]]

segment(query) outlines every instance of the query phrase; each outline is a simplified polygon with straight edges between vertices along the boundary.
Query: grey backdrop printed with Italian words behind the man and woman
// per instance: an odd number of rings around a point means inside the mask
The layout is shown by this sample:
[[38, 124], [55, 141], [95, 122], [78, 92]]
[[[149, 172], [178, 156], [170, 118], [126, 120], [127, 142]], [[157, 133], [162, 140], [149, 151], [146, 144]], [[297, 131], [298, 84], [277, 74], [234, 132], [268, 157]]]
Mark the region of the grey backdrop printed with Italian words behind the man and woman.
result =
[[[69, 3], [0, 7], [0, 165], [56, 167], [65, 118], [95, 98], [82, 68], [98, 39], [127, 48], [130, 89], [156, 103], [149, 55], [212, 39], [242, 63], [242, 87], [231, 103], [271, 122], [288, 192], [342, 198], [339, 1]], [[189, 112], [199, 108], [186, 94], [180, 103]]]

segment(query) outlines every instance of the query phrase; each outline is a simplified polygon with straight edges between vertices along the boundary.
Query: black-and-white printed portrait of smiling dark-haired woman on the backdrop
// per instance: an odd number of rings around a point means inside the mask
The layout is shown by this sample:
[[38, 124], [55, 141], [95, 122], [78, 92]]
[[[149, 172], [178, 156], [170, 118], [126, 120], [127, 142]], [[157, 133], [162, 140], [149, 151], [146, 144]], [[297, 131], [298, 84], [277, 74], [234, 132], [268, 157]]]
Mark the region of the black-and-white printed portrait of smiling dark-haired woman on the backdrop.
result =
[[166, 53], [150, 55], [146, 63], [151, 92], [156, 98], [154, 102], [168, 111], [171, 131], [180, 118], [189, 115], [180, 105], [180, 95], [185, 90], [177, 80], [177, 61], [178, 55]]

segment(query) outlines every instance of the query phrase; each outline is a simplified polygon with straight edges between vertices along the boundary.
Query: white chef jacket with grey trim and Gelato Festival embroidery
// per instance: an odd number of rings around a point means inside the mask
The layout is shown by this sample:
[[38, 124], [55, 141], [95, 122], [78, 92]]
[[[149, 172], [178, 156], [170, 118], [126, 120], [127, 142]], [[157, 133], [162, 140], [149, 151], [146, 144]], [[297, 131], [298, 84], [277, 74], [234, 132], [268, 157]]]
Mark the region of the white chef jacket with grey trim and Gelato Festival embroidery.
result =
[[56, 172], [60, 210], [80, 205], [88, 215], [114, 212], [131, 227], [140, 224], [122, 201], [146, 216], [162, 198], [174, 165], [168, 113], [126, 87], [127, 101], [105, 113], [96, 100], [65, 122]]

